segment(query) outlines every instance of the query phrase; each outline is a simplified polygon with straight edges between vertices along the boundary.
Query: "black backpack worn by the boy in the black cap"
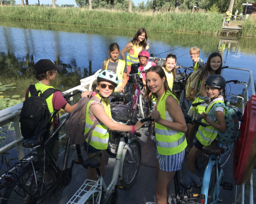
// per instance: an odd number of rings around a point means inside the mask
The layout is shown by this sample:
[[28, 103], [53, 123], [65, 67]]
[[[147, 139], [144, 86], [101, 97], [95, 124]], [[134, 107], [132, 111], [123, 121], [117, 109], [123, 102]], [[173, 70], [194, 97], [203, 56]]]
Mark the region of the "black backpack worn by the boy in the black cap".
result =
[[[49, 88], [41, 93], [35, 89], [35, 85], [29, 86], [31, 96], [24, 100], [20, 112], [20, 131], [24, 139], [35, 136], [35, 134], [46, 129], [43, 140], [49, 136], [53, 115], [50, 114], [46, 99], [58, 89]], [[41, 94], [40, 94], [41, 93]], [[54, 112], [54, 115], [56, 112]]]

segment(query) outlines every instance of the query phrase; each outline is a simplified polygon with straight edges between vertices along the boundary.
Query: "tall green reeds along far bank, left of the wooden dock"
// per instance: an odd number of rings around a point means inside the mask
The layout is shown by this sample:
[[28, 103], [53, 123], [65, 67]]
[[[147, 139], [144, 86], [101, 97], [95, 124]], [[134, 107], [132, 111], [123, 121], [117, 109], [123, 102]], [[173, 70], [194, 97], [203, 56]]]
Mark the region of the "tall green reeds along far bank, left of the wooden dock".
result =
[[47, 8], [44, 6], [4, 6], [0, 18], [53, 23], [70, 23], [147, 30], [184, 31], [217, 34], [222, 29], [223, 16], [205, 13], [126, 13], [80, 8]]

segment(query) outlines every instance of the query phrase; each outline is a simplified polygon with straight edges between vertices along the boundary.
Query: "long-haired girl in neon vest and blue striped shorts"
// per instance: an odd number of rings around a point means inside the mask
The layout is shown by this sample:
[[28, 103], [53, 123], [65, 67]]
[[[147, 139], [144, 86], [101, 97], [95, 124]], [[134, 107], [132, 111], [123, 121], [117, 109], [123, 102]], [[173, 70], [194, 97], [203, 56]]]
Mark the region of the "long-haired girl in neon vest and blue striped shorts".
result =
[[[157, 203], [168, 203], [170, 183], [180, 169], [187, 146], [184, 132], [187, 125], [182, 108], [173, 92], [170, 91], [165, 71], [159, 65], [147, 70], [147, 90], [157, 99], [151, 118], [155, 120], [155, 139], [157, 142]], [[152, 202], [147, 202], [148, 204]], [[154, 202], [153, 202], [154, 203]]]

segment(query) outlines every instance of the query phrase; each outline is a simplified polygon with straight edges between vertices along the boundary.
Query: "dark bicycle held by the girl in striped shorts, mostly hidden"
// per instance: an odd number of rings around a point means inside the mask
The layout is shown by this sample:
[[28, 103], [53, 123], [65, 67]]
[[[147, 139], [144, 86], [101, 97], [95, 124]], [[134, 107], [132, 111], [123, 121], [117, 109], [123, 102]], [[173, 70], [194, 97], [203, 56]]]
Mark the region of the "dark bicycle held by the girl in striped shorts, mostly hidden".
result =
[[[201, 121], [197, 121], [196, 119], [185, 116], [187, 123], [197, 123], [198, 125], [205, 126], [204, 123]], [[145, 119], [141, 119], [140, 122], [145, 121], [152, 121], [151, 116]], [[175, 176], [173, 177], [173, 183], [175, 186], [175, 199], [177, 204], [182, 203], [194, 203], [198, 204], [198, 196], [200, 194], [194, 194], [190, 193], [189, 190], [191, 187], [200, 188], [202, 186], [202, 181], [200, 177], [196, 176], [195, 174], [191, 173], [189, 169], [187, 168], [187, 165], [185, 163], [182, 163], [182, 169], [183, 169], [183, 176], [180, 177], [180, 170], [175, 173]], [[173, 196], [172, 196], [173, 199]], [[172, 200], [172, 203], [175, 203], [175, 201]]]

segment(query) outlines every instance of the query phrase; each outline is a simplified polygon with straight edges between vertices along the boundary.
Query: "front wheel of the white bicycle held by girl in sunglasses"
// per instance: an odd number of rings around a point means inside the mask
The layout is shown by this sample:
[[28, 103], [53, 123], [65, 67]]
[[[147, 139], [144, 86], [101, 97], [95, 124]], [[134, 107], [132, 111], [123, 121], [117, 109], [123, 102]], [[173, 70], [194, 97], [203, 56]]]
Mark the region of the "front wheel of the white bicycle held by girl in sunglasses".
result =
[[125, 160], [121, 165], [123, 165], [122, 172], [122, 180], [120, 183], [123, 187], [130, 188], [136, 177], [138, 176], [138, 170], [140, 169], [140, 161], [141, 161], [141, 145], [140, 140], [137, 138], [133, 138], [130, 141], [129, 147], [131, 148], [131, 152], [133, 153], [133, 157], [135, 159], [135, 163], [131, 161], [131, 156], [129, 151], [126, 151]]

